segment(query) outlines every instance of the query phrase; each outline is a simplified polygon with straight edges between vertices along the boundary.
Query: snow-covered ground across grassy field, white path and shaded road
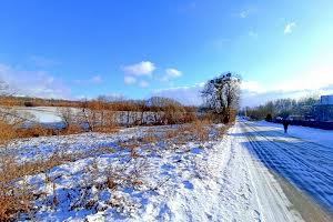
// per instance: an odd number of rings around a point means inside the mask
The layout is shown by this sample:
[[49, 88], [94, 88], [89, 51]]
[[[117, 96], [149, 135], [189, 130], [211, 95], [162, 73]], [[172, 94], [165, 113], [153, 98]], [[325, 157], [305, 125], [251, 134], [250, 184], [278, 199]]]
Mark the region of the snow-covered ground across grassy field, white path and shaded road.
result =
[[[224, 137], [219, 128], [206, 142], [182, 141], [186, 131], [165, 139], [176, 127], [155, 127], [21, 140], [11, 150], [20, 161], [89, 153], [27, 176], [39, 193], [37, 221], [330, 221], [315, 203], [332, 210], [330, 147], [265, 123], [239, 121]], [[152, 133], [161, 138], [144, 140]]]

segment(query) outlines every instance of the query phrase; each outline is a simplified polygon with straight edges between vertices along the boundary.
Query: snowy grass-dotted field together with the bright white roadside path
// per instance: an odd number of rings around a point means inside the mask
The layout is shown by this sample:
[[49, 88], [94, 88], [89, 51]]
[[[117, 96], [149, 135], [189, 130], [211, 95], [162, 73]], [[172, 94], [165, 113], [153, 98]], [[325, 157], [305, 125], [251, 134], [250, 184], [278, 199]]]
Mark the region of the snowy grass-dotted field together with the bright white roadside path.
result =
[[11, 150], [20, 161], [79, 157], [24, 178], [37, 221], [302, 221], [243, 147], [240, 125], [224, 137], [219, 129], [210, 127], [201, 142], [192, 127], [154, 127], [20, 140]]

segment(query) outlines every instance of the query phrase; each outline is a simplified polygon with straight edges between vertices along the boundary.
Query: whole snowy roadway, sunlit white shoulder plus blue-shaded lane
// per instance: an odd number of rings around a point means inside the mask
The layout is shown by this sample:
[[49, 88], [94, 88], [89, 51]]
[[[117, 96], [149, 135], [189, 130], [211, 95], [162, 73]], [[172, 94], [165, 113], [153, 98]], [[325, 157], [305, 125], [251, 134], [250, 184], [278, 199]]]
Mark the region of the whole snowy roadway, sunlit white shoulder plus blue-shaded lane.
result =
[[333, 221], [332, 149], [238, 121], [167, 203], [172, 221]]

